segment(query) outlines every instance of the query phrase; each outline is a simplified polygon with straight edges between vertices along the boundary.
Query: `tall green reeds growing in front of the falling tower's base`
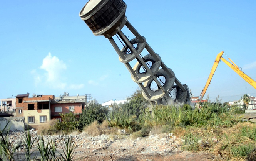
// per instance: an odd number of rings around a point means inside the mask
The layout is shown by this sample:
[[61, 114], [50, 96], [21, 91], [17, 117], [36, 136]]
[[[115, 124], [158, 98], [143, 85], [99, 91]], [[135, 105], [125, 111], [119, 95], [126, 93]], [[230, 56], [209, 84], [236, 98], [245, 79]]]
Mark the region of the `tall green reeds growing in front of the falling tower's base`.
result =
[[216, 103], [205, 103], [199, 110], [192, 110], [192, 107], [185, 105], [156, 106], [152, 112], [148, 109], [142, 115], [142, 123], [150, 126], [232, 126], [237, 123], [235, 117], [228, 111], [226, 106]]

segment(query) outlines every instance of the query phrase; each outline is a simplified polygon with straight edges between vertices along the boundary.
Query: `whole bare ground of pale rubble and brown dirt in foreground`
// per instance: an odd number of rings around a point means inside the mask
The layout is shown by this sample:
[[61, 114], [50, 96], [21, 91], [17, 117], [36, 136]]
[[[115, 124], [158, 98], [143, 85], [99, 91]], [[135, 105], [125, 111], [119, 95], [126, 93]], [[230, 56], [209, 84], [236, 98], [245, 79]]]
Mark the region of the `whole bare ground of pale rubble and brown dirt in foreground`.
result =
[[[37, 131], [31, 130], [32, 137], [38, 139]], [[23, 132], [10, 133], [11, 142], [22, 141]], [[44, 141], [54, 140], [57, 151], [62, 153], [60, 145], [64, 143], [63, 135], [43, 135]], [[89, 136], [85, 132], [73, 132], [70, 137], [74, 140], [75, 161], [212, 161], [220, 160], [207, 152], [189, 152], [182, 150], [184, 140], [169, 134], [154, 134], [143, 138], [132, 135], [100, 135]], [[40, 160], [37, 145], [32, 148], [33, 158]], [[25, 159], [25, 149], [22, 146], [15, 158]]]

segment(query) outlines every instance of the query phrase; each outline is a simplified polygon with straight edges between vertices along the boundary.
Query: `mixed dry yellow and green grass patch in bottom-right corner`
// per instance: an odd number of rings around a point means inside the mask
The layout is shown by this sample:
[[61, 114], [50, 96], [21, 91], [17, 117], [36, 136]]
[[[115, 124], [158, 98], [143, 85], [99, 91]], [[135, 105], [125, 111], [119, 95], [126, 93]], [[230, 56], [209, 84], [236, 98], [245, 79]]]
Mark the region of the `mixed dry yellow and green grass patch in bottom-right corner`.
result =
[[192, 126], [186, 128], [181, 137], [185, 140], [185, 150], [208, 151], [224, 160], [245, 161], [246, 157], [251, 157], [250, 161], [253, 161], [256, 158], [253, 153], [256, 148], [255, 123], [241, 122], [232, 127]]

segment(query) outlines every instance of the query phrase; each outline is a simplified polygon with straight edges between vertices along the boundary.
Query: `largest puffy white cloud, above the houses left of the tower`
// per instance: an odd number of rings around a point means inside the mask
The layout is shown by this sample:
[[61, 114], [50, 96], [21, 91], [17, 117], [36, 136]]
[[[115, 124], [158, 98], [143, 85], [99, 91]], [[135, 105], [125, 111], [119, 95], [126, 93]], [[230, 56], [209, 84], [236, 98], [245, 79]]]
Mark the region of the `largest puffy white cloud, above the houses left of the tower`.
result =
[[[44, 74], [39, 74], [35, 69], [31, 71], [33, 75], [35, 85], [46, 85], [54, 89], [82, 89], [84, 84], [70, 84], [65, 82], [63, 76], [64, 71], [67, 69], [66, 64], [56, 56], [52, 56], [51, 53], [43, 59], [43, 64], [40, 69], [45, 71]], [[45, 84], [42, 84], [44, 82]]]

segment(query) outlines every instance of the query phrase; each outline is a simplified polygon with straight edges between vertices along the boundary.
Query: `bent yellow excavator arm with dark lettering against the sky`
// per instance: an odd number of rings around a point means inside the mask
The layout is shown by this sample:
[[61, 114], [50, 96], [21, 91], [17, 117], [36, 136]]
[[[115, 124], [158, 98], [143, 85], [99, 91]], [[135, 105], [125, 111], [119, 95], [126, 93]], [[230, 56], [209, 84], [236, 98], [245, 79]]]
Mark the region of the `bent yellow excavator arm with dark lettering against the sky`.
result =
[[[214, 61], [214, 64], [212, 66], [212, 70], [211, 70], [211, 73], [210, 73], [210, 76], [206, 82], [206, 85], [204, 86], [204, 89], [202, 90], [200, 96], [199, 96], [199, 103], [201, 102], [201, 100], [203, 99], [204, 97], [204, 94], [206, 93], [206, 90], [209, 86], [209, 84], [211, 83], [211, 80], [212, 80], [212, 77], [213, 77], [213, 74], [214, 72], [216, 71], [216, 68], [219, 64], [219, 62], [222, 60], [224, 63], [226, 63], [229, 67], [231, 67], [231, 69], [233, 69], [239, 76], [241, 76], [246, 82], [248, 82], [249, 84], [251, 84], [251, 86], [253, 86], [255, 89], [256, 89], [256, 81], [254, 81], [251, 77], [247, 76], [244, 72], [242, 72], [239, 67], [228, 57], [228, 59], [231, 61], [227, 61], [226, 59], [224, 59], [222, 57], [224, 51], [221, 51], [215, 61]], [[225, 53], [224, 53], [225, 54]], [[226, 55], [226, 54], [225, 54]]]

